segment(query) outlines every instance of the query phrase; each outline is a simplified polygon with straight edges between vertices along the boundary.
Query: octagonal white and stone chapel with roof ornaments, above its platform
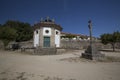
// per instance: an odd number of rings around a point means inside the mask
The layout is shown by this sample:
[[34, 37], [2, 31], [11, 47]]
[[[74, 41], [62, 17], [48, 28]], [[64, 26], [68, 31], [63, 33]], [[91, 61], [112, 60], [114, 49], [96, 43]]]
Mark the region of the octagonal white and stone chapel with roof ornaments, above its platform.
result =
[[49, 17], [41, 19], [34, 25], [34, 47], [55, 48], [60, 47], [60, 36], [62, 27]]

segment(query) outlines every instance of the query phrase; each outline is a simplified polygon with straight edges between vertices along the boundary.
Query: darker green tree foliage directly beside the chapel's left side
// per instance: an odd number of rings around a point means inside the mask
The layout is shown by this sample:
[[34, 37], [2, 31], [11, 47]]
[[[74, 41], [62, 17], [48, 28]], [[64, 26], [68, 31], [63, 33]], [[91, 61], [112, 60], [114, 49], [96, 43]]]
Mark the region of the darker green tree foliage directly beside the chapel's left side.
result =
[[28, 41], [33, 37], [33, 29], [29, 23], [9, 20], [4, 26], [9, 26], [17, 31], [16, 42]]

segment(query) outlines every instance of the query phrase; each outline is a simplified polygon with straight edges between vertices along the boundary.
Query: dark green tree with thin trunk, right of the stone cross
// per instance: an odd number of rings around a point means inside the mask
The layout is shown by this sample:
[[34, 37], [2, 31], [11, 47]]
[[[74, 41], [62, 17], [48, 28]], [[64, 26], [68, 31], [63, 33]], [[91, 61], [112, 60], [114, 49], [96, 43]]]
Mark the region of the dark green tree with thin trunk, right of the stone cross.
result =
[[112, 34], [109, 34], [109, 33], [105, 33], [105, 34], [102, 34], [101, 36], [101, 42], [103, 44], [108, 44], [110, 43], [112, 45], [112, 48], [113, 48], [113, 51], [115, 51], [115, 44], [117, 42], [120, 42], [120, 32], [116, 31]]

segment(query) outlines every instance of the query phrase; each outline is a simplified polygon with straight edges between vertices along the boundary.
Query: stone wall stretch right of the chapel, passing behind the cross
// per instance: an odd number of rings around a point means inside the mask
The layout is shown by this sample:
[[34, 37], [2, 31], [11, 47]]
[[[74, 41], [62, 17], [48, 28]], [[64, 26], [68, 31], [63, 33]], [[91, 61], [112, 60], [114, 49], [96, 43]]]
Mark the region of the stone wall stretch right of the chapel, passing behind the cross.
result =
[[[88, 45], [90, 44], [89, 41], [61, 41], [61, 48], [70, 48], [70, 49], [86, 49]], [[98, 48], [98, 49], [111, 49], [111, 45], [103, 45], [100, 41], [93, 41], [93, 44]]]

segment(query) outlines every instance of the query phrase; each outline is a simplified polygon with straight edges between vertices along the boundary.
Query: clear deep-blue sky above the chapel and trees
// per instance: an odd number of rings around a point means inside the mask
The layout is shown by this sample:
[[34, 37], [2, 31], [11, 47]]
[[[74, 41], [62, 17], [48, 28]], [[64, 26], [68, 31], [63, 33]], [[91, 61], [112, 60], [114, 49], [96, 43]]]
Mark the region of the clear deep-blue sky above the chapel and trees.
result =
[[31, 25], [49, 16], [63, 27], [63, 32], [93, 36], [120, 31], [120, 0], [0, 0], [0, 24], [7, 20]]

